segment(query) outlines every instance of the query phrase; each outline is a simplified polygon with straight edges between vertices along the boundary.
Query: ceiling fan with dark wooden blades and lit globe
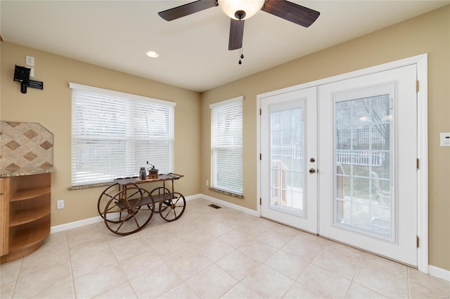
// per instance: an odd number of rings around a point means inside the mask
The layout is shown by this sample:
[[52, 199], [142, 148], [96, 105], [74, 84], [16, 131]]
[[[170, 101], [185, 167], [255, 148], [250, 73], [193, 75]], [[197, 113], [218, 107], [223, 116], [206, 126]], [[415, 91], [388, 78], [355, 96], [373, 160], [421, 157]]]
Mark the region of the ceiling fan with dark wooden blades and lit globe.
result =
[[309, 27], [320, 15], [319, 11], [286, 0], [198, 0], [160, 11], [158, 15], [164, 20], [172, 21], [214, 6], [219, 6], [231, 18], [229, 50], [242, 48], [244, 20], [259, 10], [303, 27]]

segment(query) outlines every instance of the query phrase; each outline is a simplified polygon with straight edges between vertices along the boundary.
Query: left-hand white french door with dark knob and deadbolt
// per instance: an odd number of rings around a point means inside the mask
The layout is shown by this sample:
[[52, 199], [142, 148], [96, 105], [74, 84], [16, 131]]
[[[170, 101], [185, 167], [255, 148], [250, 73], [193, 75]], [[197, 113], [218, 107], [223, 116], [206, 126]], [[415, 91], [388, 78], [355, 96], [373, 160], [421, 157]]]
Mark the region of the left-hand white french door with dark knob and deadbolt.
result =
[[262, 216], [317, 233], [317, 88], [260, 106]]

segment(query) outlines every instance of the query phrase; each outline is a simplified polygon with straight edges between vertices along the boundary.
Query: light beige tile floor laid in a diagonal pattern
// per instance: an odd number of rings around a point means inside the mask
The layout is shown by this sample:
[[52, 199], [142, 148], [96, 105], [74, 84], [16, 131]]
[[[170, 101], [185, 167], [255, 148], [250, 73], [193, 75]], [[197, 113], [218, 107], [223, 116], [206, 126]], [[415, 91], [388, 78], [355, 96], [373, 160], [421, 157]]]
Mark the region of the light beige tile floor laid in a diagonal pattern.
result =
[[210, 201], [117, 236], [51, 234], [1, 265], [6, 298], [449, 298], [450, 282]]

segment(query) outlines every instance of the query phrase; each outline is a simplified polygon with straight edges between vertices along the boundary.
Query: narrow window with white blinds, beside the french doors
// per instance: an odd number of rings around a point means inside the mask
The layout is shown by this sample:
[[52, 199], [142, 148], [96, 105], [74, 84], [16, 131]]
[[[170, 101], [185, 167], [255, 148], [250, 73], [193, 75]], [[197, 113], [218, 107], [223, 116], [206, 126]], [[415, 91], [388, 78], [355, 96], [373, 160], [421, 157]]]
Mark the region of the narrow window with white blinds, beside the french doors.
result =
[[212, 189], [243, 194], [243, 97], [210, 105]]

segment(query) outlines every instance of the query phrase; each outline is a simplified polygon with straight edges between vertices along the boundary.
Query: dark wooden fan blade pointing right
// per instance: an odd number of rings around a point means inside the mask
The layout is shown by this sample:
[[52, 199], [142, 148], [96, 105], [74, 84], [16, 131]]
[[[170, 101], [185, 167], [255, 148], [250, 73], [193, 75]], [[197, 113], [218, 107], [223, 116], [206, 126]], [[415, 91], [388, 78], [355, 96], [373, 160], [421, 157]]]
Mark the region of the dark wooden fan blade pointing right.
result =
[[261, 10], [303, 27], [309, 27], [321, 14], [286, 0], [266, 0]]

